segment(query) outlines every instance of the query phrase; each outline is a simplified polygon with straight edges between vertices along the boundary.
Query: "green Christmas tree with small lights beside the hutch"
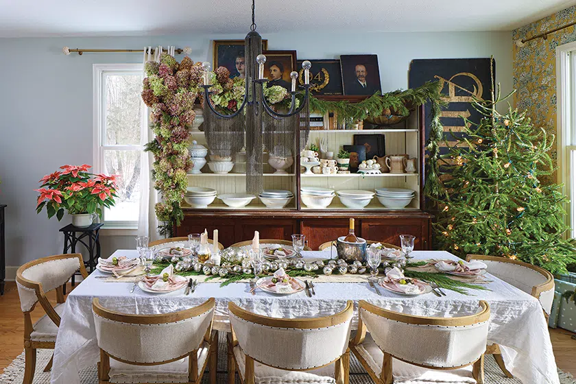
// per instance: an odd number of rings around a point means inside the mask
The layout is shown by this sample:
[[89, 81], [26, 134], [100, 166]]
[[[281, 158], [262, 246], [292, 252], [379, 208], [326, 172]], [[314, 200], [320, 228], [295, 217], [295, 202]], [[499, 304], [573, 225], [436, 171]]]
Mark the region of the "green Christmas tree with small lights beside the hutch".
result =
[[559, 184], [539, 178], [553, 170], [550, 139], [525, 112], [496, 111], [491, 101], [472, 106], [483, 118], [465, 121], [463, 136], [448, 142], [440, 157], [443, 190], [434, 226], [436, 249], [458, 256], [488, 254], [566, 272], [575, 262], [575, 244], [562, 238], [567, 201]]

